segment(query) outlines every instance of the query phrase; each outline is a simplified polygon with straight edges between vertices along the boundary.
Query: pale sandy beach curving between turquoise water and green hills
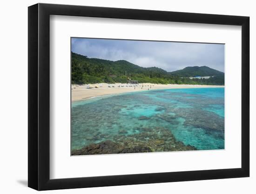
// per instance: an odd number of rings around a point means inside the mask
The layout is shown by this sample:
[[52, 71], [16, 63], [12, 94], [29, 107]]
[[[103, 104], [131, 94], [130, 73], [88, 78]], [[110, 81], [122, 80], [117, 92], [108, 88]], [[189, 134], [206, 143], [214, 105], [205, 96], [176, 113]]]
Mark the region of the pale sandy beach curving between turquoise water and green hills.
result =
[[[98, 88], [95, 88], [96, 86]], [[134, 84], [130, 85], [132, 87], [127, 87], [127, 86], [128, 84], [121, 84], [121, 83], [115, 83], [115, 84], [100, 83], [100, 84], [89, 84], [90, 89], [88, 89], [88, 85], [74, 84], [72, 85], [72, 90], [71, 90], [72, 101], [85, 100], [88, 98], [103, 96], [108, 94], [121, 94], [126, 92], [147, 91], [148, 89], [154, 90], [154, 89], [224, 87], [224, 86], [210, 86], [210, 85], [186, 85], [186, 84], [165, 85], [165, 84], [151, 84], [151, 83], [138, 84], [137, 86], [135, 86]]]

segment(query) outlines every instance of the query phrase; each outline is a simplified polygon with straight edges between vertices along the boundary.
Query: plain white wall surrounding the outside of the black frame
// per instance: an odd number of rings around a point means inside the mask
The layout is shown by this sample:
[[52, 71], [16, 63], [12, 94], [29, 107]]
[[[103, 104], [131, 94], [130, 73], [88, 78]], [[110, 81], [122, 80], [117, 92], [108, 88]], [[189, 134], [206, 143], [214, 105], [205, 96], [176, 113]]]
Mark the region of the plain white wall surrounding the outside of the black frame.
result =
[[[256, 74], [253, 55], [256, 38], [256, 12], [252, 0], [40, 0], [41, 3], [123, 7], [177, 12], [214, 13], [250, 16], [251, 99], [256, 98]], [[36, 0], [3, 1], [0, 9], [0, 191], [1, 193], [36, 193], [27, 187], [27, 7]], [[251, 170], [250, 178], [188, 181], [119, 187], [98, 187], [46, 191], [61, 194], [130, 193], [246, 193], [256, 192], [256, 103], [251, 100]], [[254, 140], [254, 141], [253, 141]]]

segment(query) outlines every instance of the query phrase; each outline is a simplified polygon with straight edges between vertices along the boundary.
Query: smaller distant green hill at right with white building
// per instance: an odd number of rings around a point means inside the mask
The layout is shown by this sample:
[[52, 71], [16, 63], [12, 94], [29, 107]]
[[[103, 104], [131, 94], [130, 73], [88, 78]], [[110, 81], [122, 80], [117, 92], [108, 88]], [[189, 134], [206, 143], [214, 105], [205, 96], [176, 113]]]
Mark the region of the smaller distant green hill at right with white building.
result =
[[184, 69], [170, 72], [171, 75], [176, 75], [180, 77], [195, 77], [195, 76], [217, 76], [224, 75], [223, 72], [217, 71], [207, 66], [194, 66], [194, 67], [185, 67]]

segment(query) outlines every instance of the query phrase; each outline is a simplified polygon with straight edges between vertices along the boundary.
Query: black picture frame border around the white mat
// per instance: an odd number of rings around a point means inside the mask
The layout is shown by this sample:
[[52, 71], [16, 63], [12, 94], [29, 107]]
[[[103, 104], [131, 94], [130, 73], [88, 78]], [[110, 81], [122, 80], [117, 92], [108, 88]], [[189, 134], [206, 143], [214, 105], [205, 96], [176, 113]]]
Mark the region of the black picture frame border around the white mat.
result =
[[[50, 179], [50, 15], [242, 26], [242, 167]], [[249, 17], [36, 4], [28, 7], [28, 187], [36, 190], [249, 177]]]

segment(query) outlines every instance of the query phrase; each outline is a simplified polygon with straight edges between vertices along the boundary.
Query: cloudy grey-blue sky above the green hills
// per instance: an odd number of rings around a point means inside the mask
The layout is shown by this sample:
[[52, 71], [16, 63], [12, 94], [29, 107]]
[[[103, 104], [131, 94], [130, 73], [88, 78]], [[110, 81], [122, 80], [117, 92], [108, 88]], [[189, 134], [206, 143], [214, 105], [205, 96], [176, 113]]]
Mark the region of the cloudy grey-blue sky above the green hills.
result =
[[208, 66], [224, 72], [223, 44], [72, 38], [71, 50], [89, 58], [127, 60], [168, 72], [188, 66]]

